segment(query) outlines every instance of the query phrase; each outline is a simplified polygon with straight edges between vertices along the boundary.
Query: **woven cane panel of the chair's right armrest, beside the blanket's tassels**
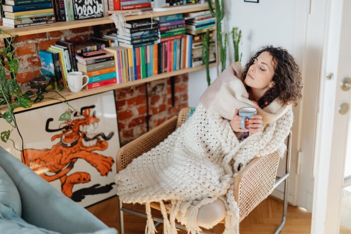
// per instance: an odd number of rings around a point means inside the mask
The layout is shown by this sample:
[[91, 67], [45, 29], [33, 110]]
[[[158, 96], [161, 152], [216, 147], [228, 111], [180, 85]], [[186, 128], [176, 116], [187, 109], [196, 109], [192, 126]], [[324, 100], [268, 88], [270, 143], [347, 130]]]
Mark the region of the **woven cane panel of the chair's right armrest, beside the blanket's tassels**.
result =
[[234, 196], [240, 210], [240, 221], [273, 192], [279, 158], [277, 151], [257, 157], [237, 174]]

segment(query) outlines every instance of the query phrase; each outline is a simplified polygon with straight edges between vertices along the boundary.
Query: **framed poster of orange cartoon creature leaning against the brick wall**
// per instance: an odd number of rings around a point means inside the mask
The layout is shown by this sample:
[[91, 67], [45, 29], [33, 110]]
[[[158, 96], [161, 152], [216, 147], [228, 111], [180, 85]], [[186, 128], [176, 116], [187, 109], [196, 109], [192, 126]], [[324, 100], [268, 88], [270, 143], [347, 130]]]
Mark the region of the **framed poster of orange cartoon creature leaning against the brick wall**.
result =
[[[116, 194], [114, 156], [120, 149], [113, 91], [70, 101], [67, 120], [53, 117], [63, 103], [16, 113], [24, 154], [0, 143], [54, 188], [86, 207]], [[28, 124], [30, 123], [30, 124]], [[13, 133], [15, 142], [20, 136]], [[23, 159], [22, 159], [23, 161]]]

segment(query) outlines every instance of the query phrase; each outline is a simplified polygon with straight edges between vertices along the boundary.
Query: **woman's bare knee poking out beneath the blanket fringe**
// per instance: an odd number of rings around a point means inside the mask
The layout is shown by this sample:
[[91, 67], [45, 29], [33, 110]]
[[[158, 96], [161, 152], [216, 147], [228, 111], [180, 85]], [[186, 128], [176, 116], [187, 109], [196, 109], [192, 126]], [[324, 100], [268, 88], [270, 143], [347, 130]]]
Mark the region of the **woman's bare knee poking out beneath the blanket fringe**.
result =
[[211, 228], [224, 219], [226, 214], [225, 205], [222, 200], [203, 205], [199, 209], [197, 224], [205, 228]]

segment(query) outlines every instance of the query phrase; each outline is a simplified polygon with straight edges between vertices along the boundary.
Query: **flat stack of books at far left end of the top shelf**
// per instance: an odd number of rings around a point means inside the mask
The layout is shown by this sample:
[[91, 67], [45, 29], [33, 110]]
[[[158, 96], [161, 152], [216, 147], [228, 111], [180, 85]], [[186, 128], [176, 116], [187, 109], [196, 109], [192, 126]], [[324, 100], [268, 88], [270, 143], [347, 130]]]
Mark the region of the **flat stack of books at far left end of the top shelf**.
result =
[[3, 25], [11, 28], [55, 22], [51, 0], [6, 0]]

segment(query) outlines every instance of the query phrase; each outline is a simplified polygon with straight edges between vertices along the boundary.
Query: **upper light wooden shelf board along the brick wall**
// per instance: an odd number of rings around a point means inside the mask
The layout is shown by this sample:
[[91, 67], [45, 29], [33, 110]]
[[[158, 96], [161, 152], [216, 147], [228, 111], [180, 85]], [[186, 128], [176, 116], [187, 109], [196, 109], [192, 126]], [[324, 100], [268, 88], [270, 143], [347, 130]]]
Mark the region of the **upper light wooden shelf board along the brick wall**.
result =
[[[142, 15], [135, 15], [135, 16], [126, 16], [126, 21], [128, 20], [138, 20], [138, 19], [145, 19], [151, 17], [158, 17], [158, 16], [167, 16], [173, 14], [180, 14], [180, 13], [188, 13], [188, 12], [197, 12], [197, 11], [204, 11], [208, 10], [208, 6], [199, 6], [199, 7], [189, 7], [187, 9], [181, 10], [173, 10], [173, 11], [165, 11], [165, 12], [154, 12], [154, 11], [145, 11]], [[5, 32], [10, 33], [11, 35], [32, 35], [37, 33], [43, 32], [52, 32], [52, 31], [59, 31], [71, 28], [81, 28], [87, 26], [94, 26], [94, 25], [102, 25], [102, 24], [110, 24], [113, 23], [113, 20], [109, 19], [108, 16], [103, 18], [97, 19], [89, 19], [89, 20], [74, 20], [74, 21], [66, 21], [66, 22], [57, 22], [52, 24], [44, 24], [44, 25], [36, 25], [36, 26], [29, 26], [23, 28], [10, 28], [6, 26], [0, 26]], [[9, 35], [0, 34], [0, 39], [9, 37]]]

